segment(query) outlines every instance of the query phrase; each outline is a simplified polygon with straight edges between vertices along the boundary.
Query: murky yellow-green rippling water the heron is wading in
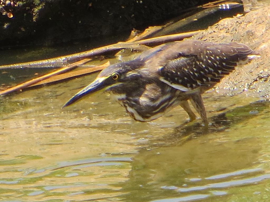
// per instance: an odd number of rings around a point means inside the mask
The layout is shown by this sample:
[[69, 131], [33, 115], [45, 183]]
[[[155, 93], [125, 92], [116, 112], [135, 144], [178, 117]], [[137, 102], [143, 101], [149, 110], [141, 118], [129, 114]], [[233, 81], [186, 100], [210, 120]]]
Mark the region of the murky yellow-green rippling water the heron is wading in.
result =
[[106, 93], [61, 109], [95, 76], [1, 98], [1, 201], [268, 201], [269, 102], [205, 93], [208, 133], [180, 107], [136, 122]]

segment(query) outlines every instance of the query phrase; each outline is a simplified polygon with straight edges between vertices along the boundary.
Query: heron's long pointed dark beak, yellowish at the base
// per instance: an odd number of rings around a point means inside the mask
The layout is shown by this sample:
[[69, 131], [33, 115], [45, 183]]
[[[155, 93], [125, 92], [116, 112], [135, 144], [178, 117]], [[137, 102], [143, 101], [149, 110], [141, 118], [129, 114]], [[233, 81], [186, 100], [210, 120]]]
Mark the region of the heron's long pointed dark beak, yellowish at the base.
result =
[[93, 81], [92, 83], [90, 83], [88, 86], [86, 86], [85, 88], [83, 88], [82, 90], [80, 90], [79, 92], [77, 92], [72, 98], [70, 98], [69, 101], [66, 102], [65, 105], [63, 105], [63, 107], [66, 107], [68, 105], [71, 105], [73, 102], [76, 102], [81, 97], [85, 96], [86, 94], [93, 93], [93, 92], [96, 92], [98, 90], [101, 90], [101, 89], [105, 88], [105, 85], [103, 83], [103, 81], [105, 79], [106, 78], [95, 79], [95, 81]]

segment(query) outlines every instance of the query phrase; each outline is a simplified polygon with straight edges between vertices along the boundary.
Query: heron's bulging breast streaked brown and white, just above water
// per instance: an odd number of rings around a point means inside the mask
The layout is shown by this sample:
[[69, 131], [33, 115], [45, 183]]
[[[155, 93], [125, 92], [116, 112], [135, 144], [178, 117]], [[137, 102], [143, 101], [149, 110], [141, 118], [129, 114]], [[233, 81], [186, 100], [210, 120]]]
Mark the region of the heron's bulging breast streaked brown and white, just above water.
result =
[[163, 83], [146, 84], [123, 94], [111, 93], [127, 113], [138, 121], [151, 121], [181, 102], [183, 92]]

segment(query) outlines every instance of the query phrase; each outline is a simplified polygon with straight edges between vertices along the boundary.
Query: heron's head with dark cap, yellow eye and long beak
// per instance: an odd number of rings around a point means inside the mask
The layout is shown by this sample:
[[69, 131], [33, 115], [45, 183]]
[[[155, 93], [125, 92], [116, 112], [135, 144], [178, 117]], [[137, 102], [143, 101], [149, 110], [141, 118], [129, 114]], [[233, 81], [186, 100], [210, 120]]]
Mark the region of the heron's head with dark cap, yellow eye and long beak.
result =
[[138, 74], [137, 69], [140, 67], [141, 61], [139, 60], [120, 62], [106, 67], [92, 83], [77, 92], [63, 107], [76, 102], [85, 95], [89, 95], [90, 93], [99, 90], [108, 90], [112, 92], [124, 91], [139, 79], [140, 75]]

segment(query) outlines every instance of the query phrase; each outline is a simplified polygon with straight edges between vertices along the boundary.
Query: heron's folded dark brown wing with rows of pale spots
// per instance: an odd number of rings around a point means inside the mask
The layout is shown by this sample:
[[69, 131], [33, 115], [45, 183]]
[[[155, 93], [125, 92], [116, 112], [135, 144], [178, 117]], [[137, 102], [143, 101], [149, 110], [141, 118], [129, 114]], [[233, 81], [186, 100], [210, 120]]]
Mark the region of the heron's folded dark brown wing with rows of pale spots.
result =
[[234, 70], [239, 61], [249, 60], [248, 55], [253, 53], [241, 43], [178, 43], [170, 47], [173, 50], [167, 50], [174, 55], [160, 66], [159, 74], [161, 81], [182, 91], [215, 85]]

